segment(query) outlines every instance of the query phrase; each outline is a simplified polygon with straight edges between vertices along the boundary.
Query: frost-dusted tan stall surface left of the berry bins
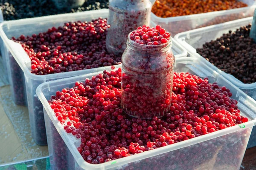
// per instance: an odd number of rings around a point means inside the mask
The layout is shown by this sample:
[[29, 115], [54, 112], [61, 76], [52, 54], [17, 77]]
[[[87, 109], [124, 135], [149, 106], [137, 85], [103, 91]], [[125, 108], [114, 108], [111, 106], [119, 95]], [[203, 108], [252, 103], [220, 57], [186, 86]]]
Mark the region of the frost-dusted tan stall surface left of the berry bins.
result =
[[36, 145], [32, 139], [28, 109], [12, 101], [7, 84], [0, 70], [0, 166], [48, 156], [48, 148]]

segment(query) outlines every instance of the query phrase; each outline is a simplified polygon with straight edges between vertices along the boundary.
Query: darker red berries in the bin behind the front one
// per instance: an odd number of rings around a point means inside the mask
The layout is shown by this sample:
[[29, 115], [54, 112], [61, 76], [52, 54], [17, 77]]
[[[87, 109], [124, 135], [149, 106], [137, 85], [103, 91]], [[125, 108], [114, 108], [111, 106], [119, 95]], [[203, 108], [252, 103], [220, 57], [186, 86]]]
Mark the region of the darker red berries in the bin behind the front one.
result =
[[58, 28], [12, 40], [22, 45], [31, 59], [31, 72], [47, 75], [119, 64], [121, 56], [106, 50], [107, 19], [69, 22]]

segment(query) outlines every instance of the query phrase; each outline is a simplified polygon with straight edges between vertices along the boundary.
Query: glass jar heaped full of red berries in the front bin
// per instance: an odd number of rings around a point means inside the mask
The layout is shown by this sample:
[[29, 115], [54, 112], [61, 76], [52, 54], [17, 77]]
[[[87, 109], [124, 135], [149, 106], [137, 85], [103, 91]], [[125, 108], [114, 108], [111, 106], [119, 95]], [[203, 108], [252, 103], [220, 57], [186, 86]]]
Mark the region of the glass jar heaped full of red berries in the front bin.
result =
[[169, 111], [175, 57], [170, 34], [160, 26], [139, 27], [128, 35], [122, 55], [122, 108], [151, 119]]

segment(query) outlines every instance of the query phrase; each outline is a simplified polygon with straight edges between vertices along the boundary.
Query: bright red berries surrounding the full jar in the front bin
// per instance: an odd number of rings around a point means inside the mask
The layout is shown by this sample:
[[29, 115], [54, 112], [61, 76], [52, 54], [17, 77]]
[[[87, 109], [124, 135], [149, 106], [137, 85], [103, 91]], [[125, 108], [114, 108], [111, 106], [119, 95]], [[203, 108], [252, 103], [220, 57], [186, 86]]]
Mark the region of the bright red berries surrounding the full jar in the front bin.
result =
[[174, 74], [170, 112], [152, 120], [131, 118], [120, 106], [121, 75], [120, 68], [104, 71], [49, 100], [64, 130], [81, 138], [78, 151], [89, 163], [143, 153], [248, 121], [229, 89], [184, 72]]

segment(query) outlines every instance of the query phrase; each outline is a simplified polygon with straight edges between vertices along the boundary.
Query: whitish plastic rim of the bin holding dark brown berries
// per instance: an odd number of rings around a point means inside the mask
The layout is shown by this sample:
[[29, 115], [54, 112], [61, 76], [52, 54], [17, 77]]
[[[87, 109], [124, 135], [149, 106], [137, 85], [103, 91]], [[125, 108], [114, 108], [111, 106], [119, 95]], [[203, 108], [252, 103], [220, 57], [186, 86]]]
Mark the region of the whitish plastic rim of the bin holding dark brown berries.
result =
[[[193, 30], [190, 30], [190, 31], [186, 31], [186, 32], [180, 32], [178, 33], [177, 35], [175, 35], [175, 40], [177, 40], [178, 43], [182, 44], [183, 45], [183, 40], [180, 39], [179, 37], [180, 36], [184, 36], [184, 35], [189, 35], [190, 33], [197, 33], [197, 32], [200, 32], [200, 33], [206, 33], [206, 32], [209, 32], [208, 30], [218, 30], [220, 29], [221, 27], [224, 27], [224, 26], [228, 26], [229, 24], [231, 23], [241, 23], [241, 22], [244, 22], [244, 21], [252, 21], [253, 20], [253, 17], [246, 17], [246, 18], [242, 18], [242, 19], [239, 19], [239, 20], [233, 20], [233, 21], [229, 21], [229, 22], [226, 22], [226, 23], [219, 23], [219, 24], [216, 24], [216, 25], [212, 25], [212, 26], [207, 26], [207, 27], [203, 27], [203, 28], [198, 28], [198, 29], [193, 29]], [[187, 43], [188, 44], [188, 43]], [[183, 46], [184, 47], [184, 46]], [[185, 47], [184, 47], [185, 48]], [[192, 55], [192, 57], [200, 57], [204, 60], [204, 62], [207, 62], [208, 64], [211, 64], [209, 61], [207, 61], [205, 58], [203, 58], [201, 55], [199, 55], [197, 52], [196, 52], [196, 49], [194, 47], [192, 47], [190, 44], [189, 44], [189, 48], [186, 48], [188, 53], [190, 55]], [[193, 49], [195, 52], [191, 51], [191, 49]], [[213, 67], [217, 68], [216, 66], [212, 65]], [[256, 88], [256, 82], [255, 83], [251, 83], [251, 84], [245, 84], [241, 81], [239, 81], [237, 78], [235, 78], [233, 75], [230, 75], [230, 74], [227, 74], [226, 72], [224, 71], [221, 71], [221, 69], [218, 69], [218, 72], [222, 73], [224, 78], [228, 79], [229, 81], [231, 81], [232, 84], [236, 85], [237, 87], [239, 87], [240, 89], [253, 89], [253, 88]], [[236, 79], [236, 81], [234, 80]]]

